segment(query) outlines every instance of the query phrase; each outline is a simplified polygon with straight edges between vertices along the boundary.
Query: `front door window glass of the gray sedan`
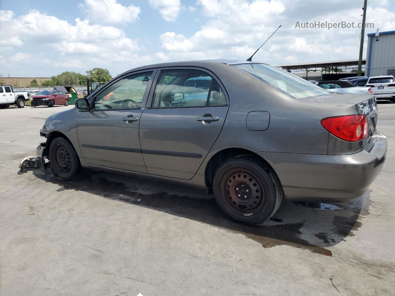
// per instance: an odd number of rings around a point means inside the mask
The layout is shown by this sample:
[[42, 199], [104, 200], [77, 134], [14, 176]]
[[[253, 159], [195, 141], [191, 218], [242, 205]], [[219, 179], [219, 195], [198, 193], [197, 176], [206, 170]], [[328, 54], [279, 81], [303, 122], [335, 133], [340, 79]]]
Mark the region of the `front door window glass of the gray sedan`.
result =
[[140, 109], [152, 72], [138, 73], [122, 78], [95, 98], [92, 110]]

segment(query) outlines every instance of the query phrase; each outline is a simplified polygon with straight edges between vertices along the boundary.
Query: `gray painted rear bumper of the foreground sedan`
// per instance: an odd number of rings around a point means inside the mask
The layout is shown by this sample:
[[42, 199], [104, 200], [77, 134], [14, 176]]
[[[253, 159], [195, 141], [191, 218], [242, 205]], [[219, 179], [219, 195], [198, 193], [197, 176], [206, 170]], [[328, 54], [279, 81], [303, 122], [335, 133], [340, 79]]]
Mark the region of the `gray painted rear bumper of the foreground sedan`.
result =
[[371, 151], [350, 155], [259, 152], [276, 171], [287, 200], [344, 201], [363, 195], [380, 173], [387, 138], [375, 131]]

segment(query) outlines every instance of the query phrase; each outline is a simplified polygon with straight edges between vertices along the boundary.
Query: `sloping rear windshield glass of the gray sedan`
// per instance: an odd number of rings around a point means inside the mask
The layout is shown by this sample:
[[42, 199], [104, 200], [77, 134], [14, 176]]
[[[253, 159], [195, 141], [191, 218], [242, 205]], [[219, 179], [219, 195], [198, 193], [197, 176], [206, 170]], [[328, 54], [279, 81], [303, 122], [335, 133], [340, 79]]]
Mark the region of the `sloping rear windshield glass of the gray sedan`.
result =
[[261, 81], [264, 81], [278, 90], [294, 98], [313, 97], [330, 94], [315, 84], [294, 74], [264, 64], [233, 65]]

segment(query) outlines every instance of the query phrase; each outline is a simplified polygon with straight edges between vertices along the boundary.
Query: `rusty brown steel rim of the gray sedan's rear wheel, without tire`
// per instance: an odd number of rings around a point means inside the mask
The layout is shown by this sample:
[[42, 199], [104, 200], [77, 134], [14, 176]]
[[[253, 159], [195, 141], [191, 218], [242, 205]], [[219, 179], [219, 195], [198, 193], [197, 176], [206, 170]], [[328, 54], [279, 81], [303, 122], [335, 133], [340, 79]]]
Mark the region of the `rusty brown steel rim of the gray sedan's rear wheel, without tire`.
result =
[[252, 215], [258, 212], [265, 199], [262, 184], [252, 172], [230, 170], [221, 180], [221, 191], [227, 206], [235, 213]]

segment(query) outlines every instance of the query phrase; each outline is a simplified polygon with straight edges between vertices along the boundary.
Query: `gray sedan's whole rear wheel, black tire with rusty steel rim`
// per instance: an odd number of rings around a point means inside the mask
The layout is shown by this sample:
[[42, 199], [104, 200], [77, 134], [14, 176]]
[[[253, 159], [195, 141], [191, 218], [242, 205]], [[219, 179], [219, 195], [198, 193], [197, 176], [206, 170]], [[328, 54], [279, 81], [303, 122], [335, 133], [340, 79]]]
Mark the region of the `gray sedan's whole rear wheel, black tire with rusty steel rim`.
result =
[[225, 161], [215, 172], [213, 191], [226, 215], [249, 225], [260, 224], [273, 216], [284, 195], [275, 172], [250, 155]]

